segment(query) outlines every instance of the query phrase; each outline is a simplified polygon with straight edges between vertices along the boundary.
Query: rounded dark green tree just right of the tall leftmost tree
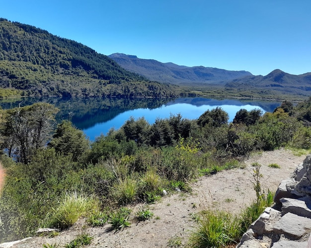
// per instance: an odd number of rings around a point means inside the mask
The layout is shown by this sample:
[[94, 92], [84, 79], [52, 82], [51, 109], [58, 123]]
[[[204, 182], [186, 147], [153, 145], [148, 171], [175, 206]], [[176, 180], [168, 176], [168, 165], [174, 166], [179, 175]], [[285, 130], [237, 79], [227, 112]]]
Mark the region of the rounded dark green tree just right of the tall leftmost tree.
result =
[[77, 162], [89, 149], [89, 142], [83, 131], [74, 127], [70, 121], [62, 121], [57, 126], [49, 146], [65, 156], [71, 154], [73, 161]]

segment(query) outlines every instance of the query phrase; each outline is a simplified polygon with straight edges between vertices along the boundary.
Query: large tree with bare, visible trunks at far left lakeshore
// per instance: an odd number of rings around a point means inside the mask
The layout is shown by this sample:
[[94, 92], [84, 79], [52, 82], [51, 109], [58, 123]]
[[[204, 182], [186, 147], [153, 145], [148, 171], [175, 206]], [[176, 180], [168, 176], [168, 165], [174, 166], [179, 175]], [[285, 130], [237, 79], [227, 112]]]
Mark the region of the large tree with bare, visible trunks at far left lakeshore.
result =
[[6, 110], [1, 133], [8, 156], [27, 164], [31, 154], [51, 138], [57, 112], [58, 109], [49, 103]]

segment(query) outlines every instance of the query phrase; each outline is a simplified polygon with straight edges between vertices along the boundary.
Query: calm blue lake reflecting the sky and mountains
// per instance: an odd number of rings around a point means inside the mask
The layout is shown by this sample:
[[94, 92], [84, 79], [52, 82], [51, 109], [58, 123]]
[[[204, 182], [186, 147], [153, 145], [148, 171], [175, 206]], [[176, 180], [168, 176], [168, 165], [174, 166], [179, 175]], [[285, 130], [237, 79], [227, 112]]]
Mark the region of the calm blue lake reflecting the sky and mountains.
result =
[[110, 128], [119, 129], [131, 116], [135, 119], [144, 117], [150, 124], [156, 118], [168, 118], [171, 114], [181, 114], [183, 118], [197, 119], [208, 109], [223, 108], [232, 121], [235, 113], [241, 108], [261, 109], [272, 112], [281, 104], [280, 101], [236, 100], [211, 98], [177, 98], [177, 99], [59, 99], [59, 98], [23, 98], [18, 100], [5, 99], [0, 101], [4, 109], [33, 104], [37, 101], [56, 105], [60, 112], [56, 118], [70, 119], [73, 124], [84, 131], [91, 141], [100, 134], [106, 134]]

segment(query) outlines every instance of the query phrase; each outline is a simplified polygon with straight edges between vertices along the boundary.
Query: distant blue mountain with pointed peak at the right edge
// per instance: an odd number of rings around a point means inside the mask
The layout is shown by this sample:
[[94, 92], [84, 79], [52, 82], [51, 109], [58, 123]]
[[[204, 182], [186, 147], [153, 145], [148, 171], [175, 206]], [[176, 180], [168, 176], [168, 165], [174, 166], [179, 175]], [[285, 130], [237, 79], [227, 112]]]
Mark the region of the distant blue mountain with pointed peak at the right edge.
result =
[[225, 85], [234, 89], [263, 89], [282, 93], [295, 93], [298, 95], [311, 95], [311, 73], [291, 75], [279, 69], [267, 76], [247, 76], [235, 79]]

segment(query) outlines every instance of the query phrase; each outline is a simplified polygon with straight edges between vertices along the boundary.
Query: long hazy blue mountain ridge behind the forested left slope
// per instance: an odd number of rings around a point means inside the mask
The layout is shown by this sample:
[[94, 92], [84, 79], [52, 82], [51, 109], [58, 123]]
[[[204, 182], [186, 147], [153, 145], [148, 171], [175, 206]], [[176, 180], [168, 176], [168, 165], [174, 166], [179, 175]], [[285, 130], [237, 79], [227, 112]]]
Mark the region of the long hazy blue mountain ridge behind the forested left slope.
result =
[[161, 83], [220, 83], [252, 75], [245, 71], [227, 71], [212, 67], [186, 67], [173, 63], [161, 63], [122, 53], [114, 53], [108, 57], [128, 71]]

